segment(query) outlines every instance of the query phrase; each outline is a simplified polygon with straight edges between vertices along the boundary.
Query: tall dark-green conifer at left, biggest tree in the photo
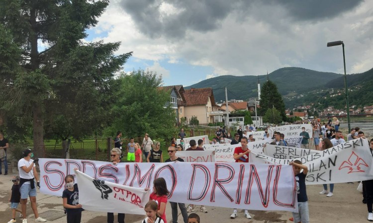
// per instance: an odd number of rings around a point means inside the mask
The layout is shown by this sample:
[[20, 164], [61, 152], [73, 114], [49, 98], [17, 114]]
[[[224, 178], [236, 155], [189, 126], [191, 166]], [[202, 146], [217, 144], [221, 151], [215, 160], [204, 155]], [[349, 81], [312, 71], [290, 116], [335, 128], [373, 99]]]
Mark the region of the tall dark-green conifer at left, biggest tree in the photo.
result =
[[110, 120], [113, 74], [131, 53], [113, 56], [120, 43], [82, 41], [108, 2], [1, 1], [0, 110], [32, 126], [37, 156], [45, 134], [79, 137]]

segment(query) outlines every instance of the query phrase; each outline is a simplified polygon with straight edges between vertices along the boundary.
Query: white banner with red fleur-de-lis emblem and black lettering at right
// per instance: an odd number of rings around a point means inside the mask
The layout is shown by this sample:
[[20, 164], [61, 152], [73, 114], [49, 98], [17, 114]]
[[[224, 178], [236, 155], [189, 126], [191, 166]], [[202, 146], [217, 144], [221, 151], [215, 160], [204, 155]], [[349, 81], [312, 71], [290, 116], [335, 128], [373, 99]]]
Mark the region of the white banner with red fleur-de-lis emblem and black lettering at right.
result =
[[[254, 155], [254, 153], [251, 153]], [[297, 158], [308, 167], [306, 184], [344, 183], [373, 179], [373, 157], [367, 139], [355, 139], [330, 149]], [[249, 156], [249, 162], [287, 165], [264, 154]]]

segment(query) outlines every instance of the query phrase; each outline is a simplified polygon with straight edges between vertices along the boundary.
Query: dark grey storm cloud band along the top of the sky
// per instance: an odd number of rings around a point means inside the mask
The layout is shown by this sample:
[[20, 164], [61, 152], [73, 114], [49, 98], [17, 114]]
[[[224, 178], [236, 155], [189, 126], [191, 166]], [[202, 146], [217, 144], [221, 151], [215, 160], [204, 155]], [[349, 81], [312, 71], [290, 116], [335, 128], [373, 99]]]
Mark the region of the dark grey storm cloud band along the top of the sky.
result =
[[[363, 0], [122, 0], [121, 7], [131, 15], [138, 29], [151, 38], [184, 38], [188, 30], [208, 32], [220, 27], [230, 13], [253, 16], [274, 23], [276, 19], [319, 21], [335, 17], [359, 5]], [[173, 5], [179, 13], [162, 15], [161, 4]], [[272, 16], [282, 8], [285, 14]], [[264, 10], [266, 8], [266, 10]], [[261, 11], [263, 10], [263, 11]], [[263, 19], [268, 16], [269, 19]], [[281, 16], [278, 18], [277, 16]]]

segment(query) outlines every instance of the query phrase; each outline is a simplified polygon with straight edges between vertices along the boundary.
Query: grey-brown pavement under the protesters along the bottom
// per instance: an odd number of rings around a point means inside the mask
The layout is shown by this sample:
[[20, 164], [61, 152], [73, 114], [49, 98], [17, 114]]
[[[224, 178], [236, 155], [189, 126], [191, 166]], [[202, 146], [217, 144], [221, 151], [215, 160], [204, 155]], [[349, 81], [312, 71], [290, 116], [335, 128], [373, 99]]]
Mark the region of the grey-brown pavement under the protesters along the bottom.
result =
[[[11, 210], [9, 207], [8, 199], [10, 196], [10, 189], [12, 182], [12, 173], [8, 175], [0, 175], [0, 223], [7, 223], [11, 219]], [[365, 223], [367, 221], [368, 211], [367, 205], [362, 203], [363, 195], [356, 190], [358, 183], [348, 184], [339, 183], [335, 184], [334, 196], [326, 197], [320, 195], [322, 185], [308, 185], [307, 195], [309, 200], [309, 213], [311, 223]], [[48, 219], [48, 213], [63, 215], [62, 199], [61, 197], [44, 195], [39, 192], [37, 194], [38, 211], [41, 217]], [[20, 208], [20, 206], [19, 206]], [[220, 207], [206, 207], [208, 213], [199, 211], [199, 206], [195, 206], [195, 213], [201, 218], [201, 223], [286, 223], [290, 222], [288, 219], [291, 217], [289, 212], [265, 212], [265, 211], [250, 211], [252, 220], [245, 219], [244, 210], [238, 210], [238, 217], [230, 219], [232, 214], [230, 208]], [[48, 211], [48, 213], [46, 213]], [[54, 213], [51, 213], [55, 211]], [[46, 214], [43, 214], [46, 213]], [[179, 212], [180, 213], [180, 212]], [[171, 223], [171, 207], [167, 204], [166, 216], [168, 223]], [[17, 213], [16, 221], [19, 220]], [[140, 223], [145, 218], [141, 215], [126, 214], [126, 223]], [[115, 216], [116, 220], [116, 216]], [[28, 223], [34, 222], [34, 216], [31, 206], [27, 206], [27, 221]], [[58, 218], [51, 223], [66, 223], [66, 216]], [[179, 223], [182, 223], [182, 216], [179, 216]], [[106, 223], [106, 213], [84, 211], [82, 213], [82, 223]]]

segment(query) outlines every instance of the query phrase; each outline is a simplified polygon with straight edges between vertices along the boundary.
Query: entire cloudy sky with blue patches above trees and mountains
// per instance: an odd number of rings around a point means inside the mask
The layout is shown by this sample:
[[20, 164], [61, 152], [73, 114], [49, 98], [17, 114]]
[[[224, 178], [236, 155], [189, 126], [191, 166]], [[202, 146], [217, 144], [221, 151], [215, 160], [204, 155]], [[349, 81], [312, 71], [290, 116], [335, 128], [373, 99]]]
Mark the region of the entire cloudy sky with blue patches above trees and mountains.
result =
[[124, 71], [149, 68], [164, 85], [296, 66], [343, 73], [373, 67], [373, 0], [111, 0], [88, 41], [133, 51]]

